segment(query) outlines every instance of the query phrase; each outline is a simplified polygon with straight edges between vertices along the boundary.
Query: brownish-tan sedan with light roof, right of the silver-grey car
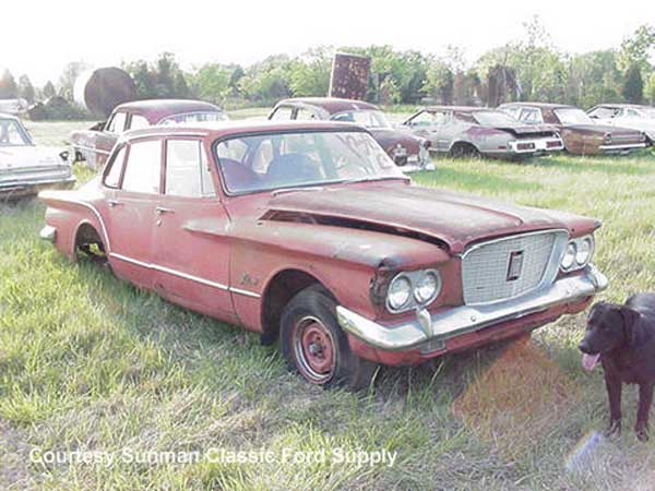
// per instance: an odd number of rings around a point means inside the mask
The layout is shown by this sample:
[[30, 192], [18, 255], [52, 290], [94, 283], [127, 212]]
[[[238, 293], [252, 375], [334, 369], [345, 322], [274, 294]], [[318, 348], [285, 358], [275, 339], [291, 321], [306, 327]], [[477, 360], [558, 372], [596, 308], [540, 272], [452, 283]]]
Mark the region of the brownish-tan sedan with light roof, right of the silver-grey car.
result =
[[567, 152], [571, 154], [627, 154], [646, 146], [646, 135], [642, 131], [596, 124], [585, 111], [575, 106], [509, 103], [498, 108], [527, 124], [555, 124]]

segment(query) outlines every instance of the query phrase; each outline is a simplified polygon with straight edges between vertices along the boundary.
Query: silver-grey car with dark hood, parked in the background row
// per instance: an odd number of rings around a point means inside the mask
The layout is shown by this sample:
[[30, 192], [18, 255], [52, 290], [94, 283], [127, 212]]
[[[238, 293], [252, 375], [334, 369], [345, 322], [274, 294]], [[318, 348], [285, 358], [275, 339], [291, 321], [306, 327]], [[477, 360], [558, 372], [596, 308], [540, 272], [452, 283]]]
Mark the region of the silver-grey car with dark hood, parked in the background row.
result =
[[432, 152], [453, 157], [485, 155], [526, 158], [558, 152], [562, 141], [552, 127], [533, 127], [481, 107], [432, 106], [403, 123], [430, 140]]

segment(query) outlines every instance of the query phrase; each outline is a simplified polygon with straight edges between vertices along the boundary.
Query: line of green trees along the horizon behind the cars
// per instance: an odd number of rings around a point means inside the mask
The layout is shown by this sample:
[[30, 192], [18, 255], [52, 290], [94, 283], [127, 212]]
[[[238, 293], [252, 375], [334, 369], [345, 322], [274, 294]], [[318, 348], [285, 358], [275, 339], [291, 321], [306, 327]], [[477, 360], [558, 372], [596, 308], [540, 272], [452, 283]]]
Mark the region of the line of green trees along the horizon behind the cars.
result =
[[[136, 60], [122, 68], [134, 79], [140, 98], [200, 98], [225, 108], [326, 95], [336, 51], [370, 57], [367, 98], [382, 105], [655, 104], [655, 26], [642, 25], [614, 49], [575, 55], [559, 50], [538, 17], [524, 28], [523, 38], [490, 49], [473, 63], [456, 46], [448, 46], [439, 57], [391, 46], [322, 46], [298, 57], [270, 56], [249, 67], [206, 63], [182, 70], [174, 53], [164, 52], [154, 62]], [[23, 97], [32, 104], [58, 95], [72, 100], [75, 79], [87, 69], [85, 63], [69, 63], [56, 83], [43, 87], [34, 87], [27, 75], [16, 82], [5, 71], [0, 98]]]

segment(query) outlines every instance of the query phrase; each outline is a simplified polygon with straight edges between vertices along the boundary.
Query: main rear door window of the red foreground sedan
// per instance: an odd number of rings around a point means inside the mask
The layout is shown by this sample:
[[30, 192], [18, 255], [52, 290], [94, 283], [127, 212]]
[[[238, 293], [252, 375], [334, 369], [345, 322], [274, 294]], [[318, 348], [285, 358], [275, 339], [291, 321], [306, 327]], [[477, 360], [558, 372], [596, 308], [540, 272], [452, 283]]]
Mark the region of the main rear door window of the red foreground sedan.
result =
[[147, 140], [132, 143], [126, 166], [123, 191], [158, 193], [162, 142], [159, 140]]

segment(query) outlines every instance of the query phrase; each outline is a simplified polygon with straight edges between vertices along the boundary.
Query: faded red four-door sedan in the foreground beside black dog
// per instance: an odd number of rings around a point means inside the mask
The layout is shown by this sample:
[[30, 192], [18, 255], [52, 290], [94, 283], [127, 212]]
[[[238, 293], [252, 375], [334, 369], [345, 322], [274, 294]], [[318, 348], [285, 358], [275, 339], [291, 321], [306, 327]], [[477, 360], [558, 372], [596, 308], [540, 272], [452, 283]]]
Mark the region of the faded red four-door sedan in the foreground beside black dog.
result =
[[40, 197], [61, 253], [279, 338], [323, 386], [528, 332], [607, 286], [598, 220], [415, 185], [349, 123], [129, 132], [102, 176]]

